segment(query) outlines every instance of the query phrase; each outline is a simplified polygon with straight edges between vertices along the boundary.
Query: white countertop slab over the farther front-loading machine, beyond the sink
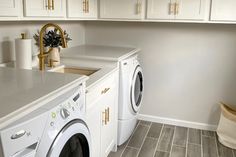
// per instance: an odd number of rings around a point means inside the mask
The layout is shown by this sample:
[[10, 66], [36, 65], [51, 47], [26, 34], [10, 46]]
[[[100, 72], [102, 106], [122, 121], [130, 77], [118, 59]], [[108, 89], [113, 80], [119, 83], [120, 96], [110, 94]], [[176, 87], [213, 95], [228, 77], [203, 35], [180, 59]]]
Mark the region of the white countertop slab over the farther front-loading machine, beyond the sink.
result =
[[61, 57], [121, 61], [138, 51], [140, 49], [129, 47], [81, 45], [63, 49]]

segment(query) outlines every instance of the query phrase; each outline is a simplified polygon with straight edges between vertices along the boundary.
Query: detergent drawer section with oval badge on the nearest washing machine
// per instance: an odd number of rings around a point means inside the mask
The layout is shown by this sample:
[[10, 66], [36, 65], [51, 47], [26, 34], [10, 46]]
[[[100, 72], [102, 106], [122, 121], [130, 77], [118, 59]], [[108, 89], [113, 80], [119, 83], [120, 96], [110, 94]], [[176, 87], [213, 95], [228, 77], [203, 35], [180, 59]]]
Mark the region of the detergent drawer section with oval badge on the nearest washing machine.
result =
[[0, 157], [35, 157], [48, 114], [38, 109], [0, 130]]

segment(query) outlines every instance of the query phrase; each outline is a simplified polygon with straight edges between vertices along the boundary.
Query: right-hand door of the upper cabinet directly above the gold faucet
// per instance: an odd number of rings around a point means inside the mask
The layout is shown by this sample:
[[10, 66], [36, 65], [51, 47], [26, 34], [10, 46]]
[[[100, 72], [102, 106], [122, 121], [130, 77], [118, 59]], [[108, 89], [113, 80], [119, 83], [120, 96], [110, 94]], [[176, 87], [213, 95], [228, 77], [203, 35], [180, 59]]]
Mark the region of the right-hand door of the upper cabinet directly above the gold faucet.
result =
[[65, 17], [66, 16], [66, 1], [65, 0], [51, 0], [54, 6], [49, 10], [50, 17]]

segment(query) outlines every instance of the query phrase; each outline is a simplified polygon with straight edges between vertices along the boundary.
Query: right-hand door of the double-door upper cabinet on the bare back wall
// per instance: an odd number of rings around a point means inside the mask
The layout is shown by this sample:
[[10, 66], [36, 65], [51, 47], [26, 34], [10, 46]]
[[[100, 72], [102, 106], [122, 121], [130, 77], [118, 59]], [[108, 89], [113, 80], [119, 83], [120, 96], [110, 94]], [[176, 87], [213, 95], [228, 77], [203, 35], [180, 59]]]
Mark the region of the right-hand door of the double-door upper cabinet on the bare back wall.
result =
[[176, 0], [176, 19], [203, 20], [205, 0]]

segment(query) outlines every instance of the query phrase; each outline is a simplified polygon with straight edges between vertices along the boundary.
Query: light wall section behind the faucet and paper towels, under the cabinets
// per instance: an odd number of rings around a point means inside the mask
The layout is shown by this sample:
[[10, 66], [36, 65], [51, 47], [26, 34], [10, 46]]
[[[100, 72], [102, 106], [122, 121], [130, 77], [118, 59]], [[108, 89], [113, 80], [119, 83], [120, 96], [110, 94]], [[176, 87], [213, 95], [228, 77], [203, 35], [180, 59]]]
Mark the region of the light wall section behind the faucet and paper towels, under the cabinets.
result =
[[[14, 40], [19, 38], [22, 32], [26, 32], [28, 37], [32, 36], [47, 22], [0, 22], [0, 63], [14, 60]], [[73, 39], [69, 46], [83, 44], [85, 41], [84, 24], [79, 22], [55, 22], [63, 29], [67, 30]], [[32, 40], [33, 53], [38, 52], [38, 48]]]

